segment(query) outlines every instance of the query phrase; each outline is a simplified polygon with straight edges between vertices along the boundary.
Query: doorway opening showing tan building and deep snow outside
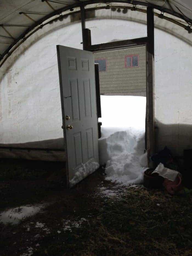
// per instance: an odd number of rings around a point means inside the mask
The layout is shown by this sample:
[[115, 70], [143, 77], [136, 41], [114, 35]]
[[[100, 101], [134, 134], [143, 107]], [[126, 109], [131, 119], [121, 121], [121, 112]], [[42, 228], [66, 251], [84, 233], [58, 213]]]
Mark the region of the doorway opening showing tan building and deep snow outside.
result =
[[145, 151], [146, 46], [94, 53], [101, 99], [100, 164], [106, 179], [140, 183]]

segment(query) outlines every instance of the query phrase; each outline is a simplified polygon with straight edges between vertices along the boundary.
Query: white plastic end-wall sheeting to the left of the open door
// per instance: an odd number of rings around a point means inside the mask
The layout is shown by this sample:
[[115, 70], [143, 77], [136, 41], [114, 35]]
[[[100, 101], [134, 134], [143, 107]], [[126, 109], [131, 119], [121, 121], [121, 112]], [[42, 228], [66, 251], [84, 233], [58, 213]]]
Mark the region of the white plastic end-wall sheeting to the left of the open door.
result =
[[[6, 63], [9, 66], [2, 66], [0, 143], [3, 146], [65, 149], [56, 44], [81, 49], [81, 24], [67, 27], [65, 33], [63, 26], [52, 31], [54, 25], [47, 27], [49, 32], [34, 34], [15, 51]], [[52, 151], [0, 150], [0, 155], [65, 160], [64, 152]]]

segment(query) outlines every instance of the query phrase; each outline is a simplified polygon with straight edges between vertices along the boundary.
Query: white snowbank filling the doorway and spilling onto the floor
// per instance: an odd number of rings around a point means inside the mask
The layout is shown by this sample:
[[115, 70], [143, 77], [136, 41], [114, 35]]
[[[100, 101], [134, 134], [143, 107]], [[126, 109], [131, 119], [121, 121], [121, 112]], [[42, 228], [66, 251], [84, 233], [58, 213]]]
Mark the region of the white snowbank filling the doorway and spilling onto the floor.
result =
[[101, 96], [100, 164], [106, 179], [125, 185], [143, 181], [147, 167], [145, 149], [146, 98]]

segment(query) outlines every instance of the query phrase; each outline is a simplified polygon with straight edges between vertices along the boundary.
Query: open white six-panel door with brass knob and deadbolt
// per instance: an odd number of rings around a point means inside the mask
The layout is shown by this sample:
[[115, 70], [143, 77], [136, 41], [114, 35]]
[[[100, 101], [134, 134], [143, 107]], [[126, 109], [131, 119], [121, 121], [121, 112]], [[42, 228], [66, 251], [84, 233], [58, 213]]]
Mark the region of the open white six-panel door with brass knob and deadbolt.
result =
[[92, 52], [57, 45], [67, 183], [99, 167], [95, 67]]

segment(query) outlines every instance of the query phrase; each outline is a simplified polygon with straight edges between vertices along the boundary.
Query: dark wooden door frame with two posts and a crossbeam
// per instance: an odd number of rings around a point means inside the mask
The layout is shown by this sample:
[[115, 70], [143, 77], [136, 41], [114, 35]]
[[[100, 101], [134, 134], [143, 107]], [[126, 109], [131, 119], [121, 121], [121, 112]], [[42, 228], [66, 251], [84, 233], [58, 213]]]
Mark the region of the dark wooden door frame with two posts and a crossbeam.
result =
[[131, 40], [115, 41], [103, 44], [91, 44], [91, 30], [85, 28], [84, 8], [81, 9], [81, 24], [83, 35], [83, 49], [91, 52], [115, 50], [131, 46], [146, 46], [146, 127], [145, 147], [148, 156], [155, 153], [155, 130], [154, 130], [154, 13], [152, 7], [147, 7], [147, 37]]

